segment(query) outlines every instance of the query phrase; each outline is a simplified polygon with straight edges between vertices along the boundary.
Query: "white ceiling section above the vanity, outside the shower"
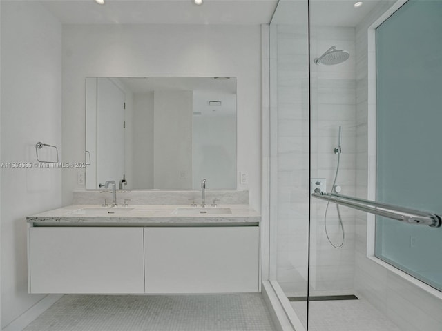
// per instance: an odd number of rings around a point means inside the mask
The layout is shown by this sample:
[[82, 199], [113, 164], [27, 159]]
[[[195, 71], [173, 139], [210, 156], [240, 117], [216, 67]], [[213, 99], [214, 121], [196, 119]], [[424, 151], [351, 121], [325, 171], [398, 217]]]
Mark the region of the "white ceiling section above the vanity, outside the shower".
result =
[[42, 0], [63, 24], [262, 24], [278, 0]]

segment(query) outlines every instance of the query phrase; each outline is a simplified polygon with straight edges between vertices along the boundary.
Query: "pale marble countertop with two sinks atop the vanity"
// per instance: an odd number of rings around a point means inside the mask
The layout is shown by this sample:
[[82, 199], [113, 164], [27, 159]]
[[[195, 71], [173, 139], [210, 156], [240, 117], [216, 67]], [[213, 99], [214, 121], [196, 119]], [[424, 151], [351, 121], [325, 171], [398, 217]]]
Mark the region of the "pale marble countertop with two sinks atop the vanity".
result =
[[218, 205], [206, 208], [190, 205], [69, 205], [26, 217], [40, 225], [158, 225], [158, 223], [259, 223], [260, 214], [249, 205]]

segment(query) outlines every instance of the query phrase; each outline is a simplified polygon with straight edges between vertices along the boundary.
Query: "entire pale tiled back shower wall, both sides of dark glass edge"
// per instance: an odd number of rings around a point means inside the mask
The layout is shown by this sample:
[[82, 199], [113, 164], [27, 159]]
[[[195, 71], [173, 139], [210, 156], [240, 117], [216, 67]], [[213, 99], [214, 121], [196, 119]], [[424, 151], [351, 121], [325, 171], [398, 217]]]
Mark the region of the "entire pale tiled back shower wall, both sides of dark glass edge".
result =
[[[277, 148], [278, 219], [277, 279], [287, 295], [305, 295], [309, 212], [309, 68], [308, 36], [305, 26], [277, 26], [278, 112], [273, 119], [273, 148]], [[276, 37], [276, 36], [275, 36]], [[325, 178], [332, 187], [337, 155], [338, 127], [342, 126], [343, 153], [337, 184], [343, 194], [354, 194], [356, 180], [356, 73], [354, 28], [317, 26], [311, 28], [312, 57], [336, 45], [351, 57], [337, 66], [311, 64], [311, 176]], [[275, 132], [276, 131], [276, 132]], [[275, 170], [276, 168], [276, 170]], [[274, 183], [272, 184], [274, 188]], [[354, 212], [341, 209], [345, 244], [333, 248], [324, 232], [324, 201], [314, 199], [311, 208], [312, 294], [352, 292], [354, 275]], [[336, 208], [327, 217], [329, 235], [340, 242]]]

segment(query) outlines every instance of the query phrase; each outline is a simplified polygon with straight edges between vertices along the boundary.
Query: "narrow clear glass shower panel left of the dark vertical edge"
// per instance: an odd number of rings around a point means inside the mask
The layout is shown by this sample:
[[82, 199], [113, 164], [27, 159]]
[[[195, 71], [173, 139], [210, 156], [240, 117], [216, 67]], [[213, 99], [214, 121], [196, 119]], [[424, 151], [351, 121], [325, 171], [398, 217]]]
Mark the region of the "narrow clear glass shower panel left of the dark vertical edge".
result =
[[[270, 280], [307, 327], [309, 68], [307, 0], [280, 0], [270, 25]], [[289, 301], [294, 300], [294, 301]], [[293, 312], [291, 312], [293, 314]], [[299, 322], [299, 321], [298, 321]], [[297, 322], [297, 323], [298, 323]]]

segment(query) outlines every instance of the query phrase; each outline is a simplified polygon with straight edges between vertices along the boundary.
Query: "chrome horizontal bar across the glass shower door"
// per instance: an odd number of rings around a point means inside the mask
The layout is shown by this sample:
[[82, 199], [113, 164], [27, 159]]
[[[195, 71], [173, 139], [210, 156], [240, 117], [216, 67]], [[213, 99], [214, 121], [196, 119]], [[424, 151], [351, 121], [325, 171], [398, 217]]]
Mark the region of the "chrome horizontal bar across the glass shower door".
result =
[[410, 208], [401, 207], [398, 205], [390, 205], [377, 201], [365, 200], [347, 195], [316, 192], [311, 194], [311, 197], [317, 199], [327, 200], [338, 205], [345, 205], [349, 208], [362, 210], [390, 219], [396, 219], [405, 223], [416, 225], [429, 225], [432, 228], [439, 228], [442, 225], [442, 219], [438, 214], [431, 212], [423, 212], [421, 210], [414, 210]]

